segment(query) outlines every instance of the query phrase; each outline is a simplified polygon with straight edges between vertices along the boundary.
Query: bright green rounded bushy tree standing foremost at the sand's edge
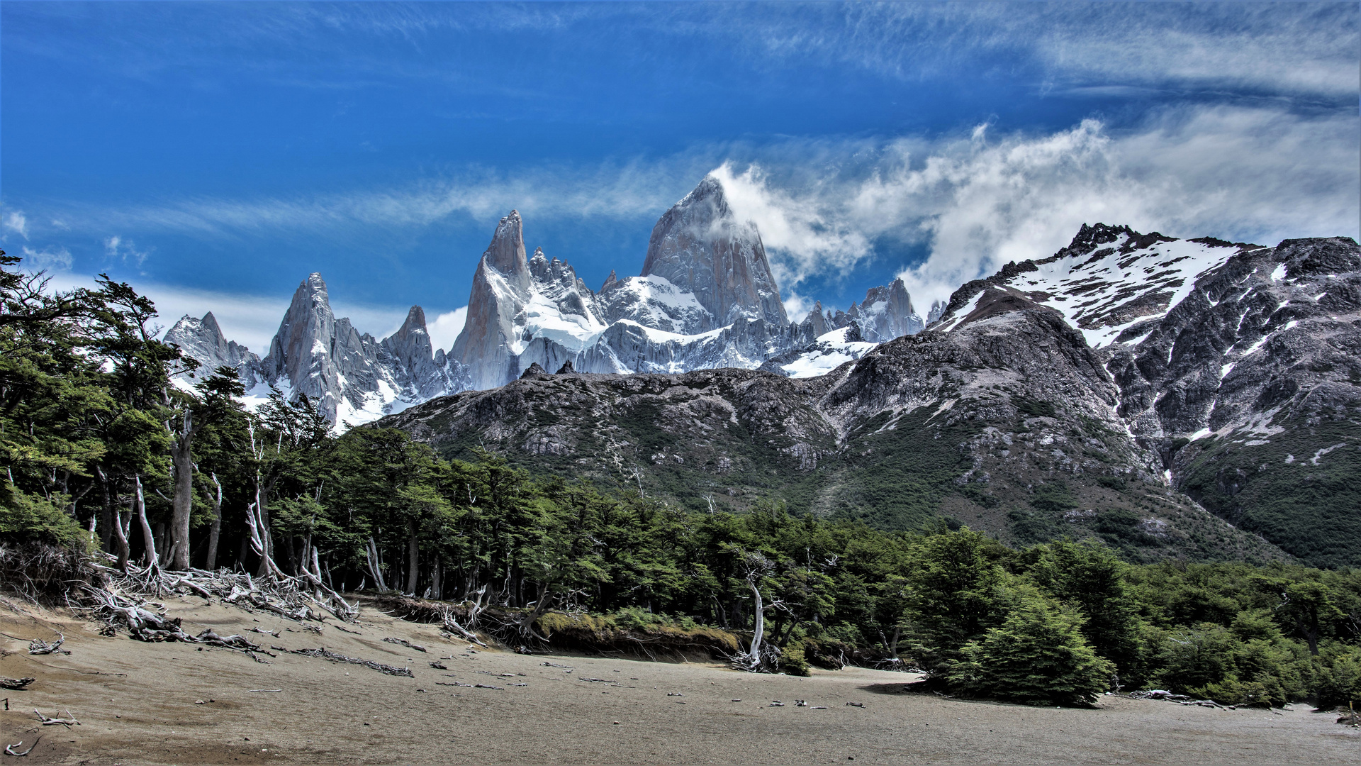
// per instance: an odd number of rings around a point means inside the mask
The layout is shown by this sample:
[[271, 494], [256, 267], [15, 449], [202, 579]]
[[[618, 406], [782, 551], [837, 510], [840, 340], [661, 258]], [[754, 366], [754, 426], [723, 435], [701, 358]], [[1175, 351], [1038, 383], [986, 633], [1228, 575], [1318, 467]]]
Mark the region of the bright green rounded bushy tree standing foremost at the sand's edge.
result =
[[1115, 664], [1082, 638], [1082, 616], [1033, 587], [1000, 627], [964, 646], [947, 681], [962, 694], [1033, 705], [1090, 705], [1109, 688]]

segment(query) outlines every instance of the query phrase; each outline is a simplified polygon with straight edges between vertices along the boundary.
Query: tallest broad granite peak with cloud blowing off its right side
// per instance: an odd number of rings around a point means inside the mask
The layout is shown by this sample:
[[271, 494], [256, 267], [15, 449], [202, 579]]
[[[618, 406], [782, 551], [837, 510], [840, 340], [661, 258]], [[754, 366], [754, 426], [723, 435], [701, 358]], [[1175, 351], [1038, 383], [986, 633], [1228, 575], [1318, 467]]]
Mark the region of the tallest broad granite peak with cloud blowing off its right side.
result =
[[653, 226], [641, 275], [663, 277], [693, 293], [713, 315], [715, 327], [738, 316], [789, 324], [755, 224], [734, 215], [713, 174]]

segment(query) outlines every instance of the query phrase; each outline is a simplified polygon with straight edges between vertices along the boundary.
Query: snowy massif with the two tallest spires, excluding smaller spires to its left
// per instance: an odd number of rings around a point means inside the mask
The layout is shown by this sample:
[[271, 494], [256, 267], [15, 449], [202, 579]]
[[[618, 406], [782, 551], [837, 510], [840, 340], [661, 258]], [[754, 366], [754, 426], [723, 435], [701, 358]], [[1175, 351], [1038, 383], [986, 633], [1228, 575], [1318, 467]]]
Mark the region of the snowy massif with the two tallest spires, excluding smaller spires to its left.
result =
[[[823, 316], [818, 304], [815, 316], [791, 323], [761, 233], [734, 214], [713, 176], [657, 221], [642, 273], [621, 279], [611, 271], [599, 293], [568, 263], [542, 249], [527, 259], [525, 249], [523, 221], [510, 211], [478, 263], [468, 319], [449, 352], [472, 388], [568, 363], [574, 372], [686, 372], [755, 369], [780, 357], [781, 373], [815, 375], [924, 326], [901, 281], [871, 289], [849, 312]], [[851, 341], [827, 335], [852, 324]], [[808, 360], [799, 361], [802, 353]]]

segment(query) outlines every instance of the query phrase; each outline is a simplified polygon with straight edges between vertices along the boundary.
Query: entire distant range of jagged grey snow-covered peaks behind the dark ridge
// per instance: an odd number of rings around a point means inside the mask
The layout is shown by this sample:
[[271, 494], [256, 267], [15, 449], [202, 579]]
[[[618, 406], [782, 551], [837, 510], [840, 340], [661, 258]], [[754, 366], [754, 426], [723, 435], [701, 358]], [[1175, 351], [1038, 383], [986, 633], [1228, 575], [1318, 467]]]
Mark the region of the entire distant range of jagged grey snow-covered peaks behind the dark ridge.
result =
[[381, 341], [336, 319], [320, 274], [298, 286], [263, 360], [229, 342], [211, 313], [185, 316], [166, 339], [200, 369], [237, 367], [250, 403], [275, 386], [316, 399], [336, 424], [361, 424], [444, 394], [504, 386], [534, 365], [592, 373], [764, 367], [806, 378], [923, 324], [901, 279], [872, 288], [849, 311], [823, 313], [819, 303], [791, 323], [761, 233], [708, 176], [657, 221], [640, 275], [611, 271], [599, 293], [542, 248], [527, 256], [524, 222], [512, 210], [478, 262], [448, 354], [433, 349], [421, 307]]

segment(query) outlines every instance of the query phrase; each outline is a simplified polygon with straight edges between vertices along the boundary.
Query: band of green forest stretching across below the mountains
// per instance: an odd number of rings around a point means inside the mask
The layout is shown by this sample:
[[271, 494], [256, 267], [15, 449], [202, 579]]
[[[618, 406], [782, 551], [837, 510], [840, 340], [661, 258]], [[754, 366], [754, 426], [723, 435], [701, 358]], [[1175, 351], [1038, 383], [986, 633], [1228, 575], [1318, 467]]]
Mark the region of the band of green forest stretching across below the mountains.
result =
[[769, 500], [694, 511], [490, 453], [446, 461], [400, 431], [336, 435], [306, 398], [246, 412], [230, 368], [180, 386], [195, 363], [157, 339], [144, 296], [0, 266], [0, 559], [59, 547], [124, 570], [308, 572], [342, 593], [708, 627], [758, 643], [768, 671], [847, 656], [1025, 703], [1161, 688], [1328, 707], [1361, 691], [1350, 568], [1134, 564], [1096, 542], [1014, 549]]

